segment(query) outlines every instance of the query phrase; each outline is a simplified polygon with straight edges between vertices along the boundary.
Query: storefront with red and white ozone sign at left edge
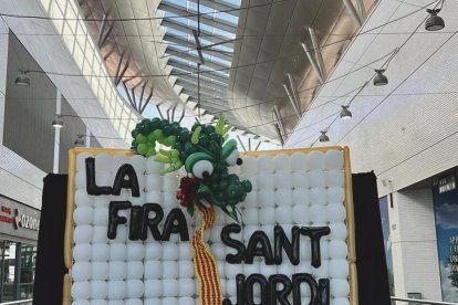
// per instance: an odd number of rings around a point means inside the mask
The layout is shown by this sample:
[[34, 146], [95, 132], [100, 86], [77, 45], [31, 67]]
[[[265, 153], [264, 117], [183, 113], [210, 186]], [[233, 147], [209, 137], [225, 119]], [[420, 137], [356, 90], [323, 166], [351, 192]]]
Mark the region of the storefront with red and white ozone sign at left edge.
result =
[[0, 196], [0, 303], [31, 298], [40, 211]]

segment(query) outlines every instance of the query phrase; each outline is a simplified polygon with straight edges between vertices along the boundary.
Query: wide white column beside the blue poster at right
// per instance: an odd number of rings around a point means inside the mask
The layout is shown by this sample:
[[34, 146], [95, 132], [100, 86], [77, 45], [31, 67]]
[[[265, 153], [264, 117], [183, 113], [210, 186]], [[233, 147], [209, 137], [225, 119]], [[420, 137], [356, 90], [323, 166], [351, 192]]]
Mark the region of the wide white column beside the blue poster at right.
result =
[[431, 189], [393, 193], [389, 223], [396, 296], [441, 301]]

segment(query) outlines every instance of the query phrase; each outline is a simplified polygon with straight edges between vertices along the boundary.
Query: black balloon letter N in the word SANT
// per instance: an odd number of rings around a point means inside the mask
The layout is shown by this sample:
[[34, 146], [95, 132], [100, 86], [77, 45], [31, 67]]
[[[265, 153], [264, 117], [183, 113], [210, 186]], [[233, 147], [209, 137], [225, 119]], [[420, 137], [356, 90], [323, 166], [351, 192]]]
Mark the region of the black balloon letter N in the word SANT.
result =
[[278, 265], [281, 264], [283, 261], [283, 251], [287, 253], [288, 257], [290, 259], [291, 264], [298, 265], [299, 264], [299, 238], [300, 238], [300, 229], [299, 227], [294, 225], [291, 229], [292, 242], [288, 240], [287, 234], [284, 234], [283, 228], [280, 225], [275, 225], [273, 229], [274, 231], [274, 253], [275, 253], [275, 263]]

